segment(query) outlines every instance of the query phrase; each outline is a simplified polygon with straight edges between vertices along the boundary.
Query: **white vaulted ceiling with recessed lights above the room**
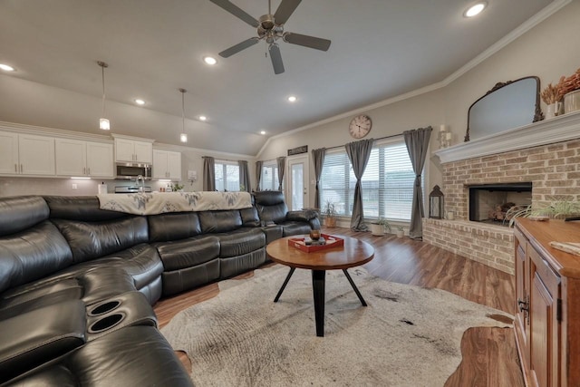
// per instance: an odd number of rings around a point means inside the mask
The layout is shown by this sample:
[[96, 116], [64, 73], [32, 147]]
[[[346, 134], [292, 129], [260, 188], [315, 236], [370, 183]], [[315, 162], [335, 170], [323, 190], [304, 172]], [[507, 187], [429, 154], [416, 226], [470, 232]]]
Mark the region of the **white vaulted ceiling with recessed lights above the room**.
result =
[[[232, 3], [255, 18], [267, 14], [266, 0]], [[444, 80], [550, 3], [488, 0], [481, 15], [468, 19], [467, 0], [304, 0], [285, 31], [332, 44], [322, 52], [280, 42], [285, 73], [275, 75], [263, 42], [218, 56], [256, 30], [209, 0], [3, 0], [0, 63], [17, 71], [0, 76], [98, 101], [96, 61], [104, 61], [108, 101], [126, 104], [131, 114], [144, 109], [175, 119], [171, 130], [140, 123], [149, 134], [143, 137], [179, 144], [178, 89], [185, 88], [191, 146], [255, 155], [268, 136]], [[272, 1], [273, 12], [279, 4]], [[218, 63], [203, 63], [205, 55]], [[297, 102], [287, 102], [289, 95]], [[135, 107], [138, 97], [143, 107]], [[27, 123], [30, 109], [11, 118]], [[98, 114], [78, 130], [95, 132]], [[208, 121], [198, 121], [200, 114]], [[61, 120], [52, 126], [68, 129]], [[111, 117], [113, 130], [114, 124]], [[130, 129], [125, 134], [135, 133]]]

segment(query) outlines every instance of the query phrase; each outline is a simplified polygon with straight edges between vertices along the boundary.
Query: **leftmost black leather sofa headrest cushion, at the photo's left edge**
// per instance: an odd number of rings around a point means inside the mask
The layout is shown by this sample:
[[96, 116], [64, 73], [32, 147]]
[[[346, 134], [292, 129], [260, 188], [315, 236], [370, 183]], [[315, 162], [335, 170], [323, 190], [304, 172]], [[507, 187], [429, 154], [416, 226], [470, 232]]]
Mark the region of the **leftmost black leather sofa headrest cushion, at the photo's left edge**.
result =
[[33, 227], [48, 219], [49, 208], [41, 197], [0, 199], [0, 237]]

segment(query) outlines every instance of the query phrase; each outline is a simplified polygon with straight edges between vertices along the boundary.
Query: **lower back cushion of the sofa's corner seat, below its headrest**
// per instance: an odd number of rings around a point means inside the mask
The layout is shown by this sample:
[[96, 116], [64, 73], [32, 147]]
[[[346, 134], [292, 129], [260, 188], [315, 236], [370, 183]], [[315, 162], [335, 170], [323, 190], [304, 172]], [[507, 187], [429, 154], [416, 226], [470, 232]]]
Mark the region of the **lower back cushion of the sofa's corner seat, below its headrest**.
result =
[[128, 217], [102, 222], [53, 219], [71, 246], [75, 263], [107, 256], [149, 240], [147, 218]]

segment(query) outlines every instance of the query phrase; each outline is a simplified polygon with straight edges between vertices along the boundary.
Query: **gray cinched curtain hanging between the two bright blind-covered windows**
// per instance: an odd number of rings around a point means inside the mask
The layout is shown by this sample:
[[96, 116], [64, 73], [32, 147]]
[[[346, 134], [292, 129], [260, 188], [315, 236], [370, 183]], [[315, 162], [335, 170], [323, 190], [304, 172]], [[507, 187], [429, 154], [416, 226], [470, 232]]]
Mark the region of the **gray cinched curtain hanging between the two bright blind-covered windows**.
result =
[[356, 177], [354, 187], [353, 218], [351, 218], [351, 229], [353, 231], [367, 231], [369, 228], [364, 224], [364, 214], [362, 213], [362, 174], [366, 169], [366, 164], [371, 157], [372, 142], [374, 140], [361, 140], [349, 142], [345, 145], [346, 154], [353, 164], [353, 172]]

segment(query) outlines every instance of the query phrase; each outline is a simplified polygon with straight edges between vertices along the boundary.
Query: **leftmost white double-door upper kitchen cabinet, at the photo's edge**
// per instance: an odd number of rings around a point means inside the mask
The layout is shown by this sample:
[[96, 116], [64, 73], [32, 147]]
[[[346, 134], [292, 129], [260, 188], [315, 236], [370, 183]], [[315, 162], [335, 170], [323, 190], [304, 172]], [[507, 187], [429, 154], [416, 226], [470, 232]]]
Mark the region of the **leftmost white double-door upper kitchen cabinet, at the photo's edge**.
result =
[[0, 132], [0, 174], [54, 175], [54, 139]]

